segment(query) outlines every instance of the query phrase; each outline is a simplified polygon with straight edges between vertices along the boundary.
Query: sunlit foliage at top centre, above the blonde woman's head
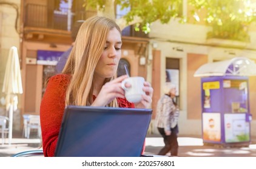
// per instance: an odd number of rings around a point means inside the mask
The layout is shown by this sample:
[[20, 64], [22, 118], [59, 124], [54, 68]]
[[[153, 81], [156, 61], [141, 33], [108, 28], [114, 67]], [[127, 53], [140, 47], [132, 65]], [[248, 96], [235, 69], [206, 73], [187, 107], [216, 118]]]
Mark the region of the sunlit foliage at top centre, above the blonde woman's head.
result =
[[[108, 14], [112, 12], [107, 10], [110, 5], [114, 7], [120, 5], [121, 10], [129, 8], [127, 14], [117, 20], [123, 20], [126, 26], [135, 24], [135, 29], [142, 28], [145, 33], [148, 33], [152, 22], [159, 20], [162, 24], [166, 24], [170, 19], [177, 18], [181, 13], [182, 0], [87, 0], [85, 2], [86, 7], [93, 7]], [[183, 18], [179, 19], [183, 22]]]

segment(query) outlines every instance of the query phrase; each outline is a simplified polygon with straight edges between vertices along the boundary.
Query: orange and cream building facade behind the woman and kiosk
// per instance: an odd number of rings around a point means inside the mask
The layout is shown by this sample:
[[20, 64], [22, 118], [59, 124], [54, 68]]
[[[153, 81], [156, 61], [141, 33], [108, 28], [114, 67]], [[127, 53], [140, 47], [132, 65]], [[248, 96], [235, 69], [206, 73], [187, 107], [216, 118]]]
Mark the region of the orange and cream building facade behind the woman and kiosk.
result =
[[[189, 0], [181, 2], [180, 13], [189, 16], [192, 8]], [[18, 48], [21, 63], [24, 92], [19, 95], [19, 109], [14, 113], [15, 130], [22, 129], [22, 115], [39, 115], [44, 80], [53, 74], [58, 57], [70, 47], [72, 24], [97, 13], [90, 8], [85, 10], [83, 4], [83, 0], [0, 1], [0, 89], [11, 46]], [[114, 10], [117, 19], [127, 13], [118, 6]], [[205, 13], [198, 13], [198, 17]], [[213, 29], [214, 26], [207, 25], [203, 20], [181, 24], [177, 19], [170, 19], [167, 24], [152, 22], [147, 34], [135, 31], [135, 25], [123, 29], [120, 65], [129, 65], [131, 76], [143, 76], [154, 89], [154, 112], [149, 132], [157, 133], [153, 127], [155, 107], [163, 94], [166, 70], [178, 87], [176, 99], [181, 109], [180, 133], [201, 135], [201, 83], [200, 78], [194, 77], [195, 71], [205, 63], [234, 57], [256, 60], [255, 23], [246, 26], [249, 40], [248, 37], [244, 40], [214, 37], [209, 34]], [[118, 73], [123, 74], [122, 66]], [[253, 104], [256, 99], [255, 83], [256, 77], [249, 77], [252, 130], [256, 129], [256, 105]], [[4, 94], [0, 92], [0, 114], [6, 115], [3, 98]], [[252, 135], [255, 133], [252, 132]]]

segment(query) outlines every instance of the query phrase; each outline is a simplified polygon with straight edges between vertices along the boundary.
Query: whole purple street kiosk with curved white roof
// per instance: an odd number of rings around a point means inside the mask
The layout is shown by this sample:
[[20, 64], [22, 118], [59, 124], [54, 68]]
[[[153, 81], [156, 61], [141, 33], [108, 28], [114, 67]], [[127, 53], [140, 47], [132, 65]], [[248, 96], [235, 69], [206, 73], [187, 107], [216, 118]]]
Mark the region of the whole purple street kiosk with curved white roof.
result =
[[207, 63], [195, 72], [195, 77], [201, 77], [204, 144], [222, 147], [250, 144], [249, 75], [256, 75], [256, 65], [244, 57]]

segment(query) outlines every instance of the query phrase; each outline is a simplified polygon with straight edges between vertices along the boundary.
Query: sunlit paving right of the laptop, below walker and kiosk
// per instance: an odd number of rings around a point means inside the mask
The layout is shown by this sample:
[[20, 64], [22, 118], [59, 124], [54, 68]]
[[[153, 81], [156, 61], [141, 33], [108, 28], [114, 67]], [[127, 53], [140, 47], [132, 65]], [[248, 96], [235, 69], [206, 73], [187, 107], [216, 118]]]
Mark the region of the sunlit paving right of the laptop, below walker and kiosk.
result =
[[[204, 145], [200, 136], [180, 135], [178, 144], [178, 156], [183, 157], [256, 157], [256, 138], [252, 138], [249, 147], [220, 147], [220, 145]], [[147, 136], [146, 153], [157, 155], [163, 146], [163, 138], [159, 135]]]

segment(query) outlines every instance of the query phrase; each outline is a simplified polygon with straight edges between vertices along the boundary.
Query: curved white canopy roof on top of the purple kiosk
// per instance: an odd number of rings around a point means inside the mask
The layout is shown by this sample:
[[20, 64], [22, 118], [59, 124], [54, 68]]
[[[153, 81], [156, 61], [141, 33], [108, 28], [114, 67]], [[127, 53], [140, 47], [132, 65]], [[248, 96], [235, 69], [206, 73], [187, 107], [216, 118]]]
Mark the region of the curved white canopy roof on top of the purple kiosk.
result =
[[206, 63], [197, 69], [197, 71], [194, 74], [194, 77], [224, 75], [256, 75], [256, 64], [253, 60], [250, 60], [246, 57], [234, 57], [231, 60]]

